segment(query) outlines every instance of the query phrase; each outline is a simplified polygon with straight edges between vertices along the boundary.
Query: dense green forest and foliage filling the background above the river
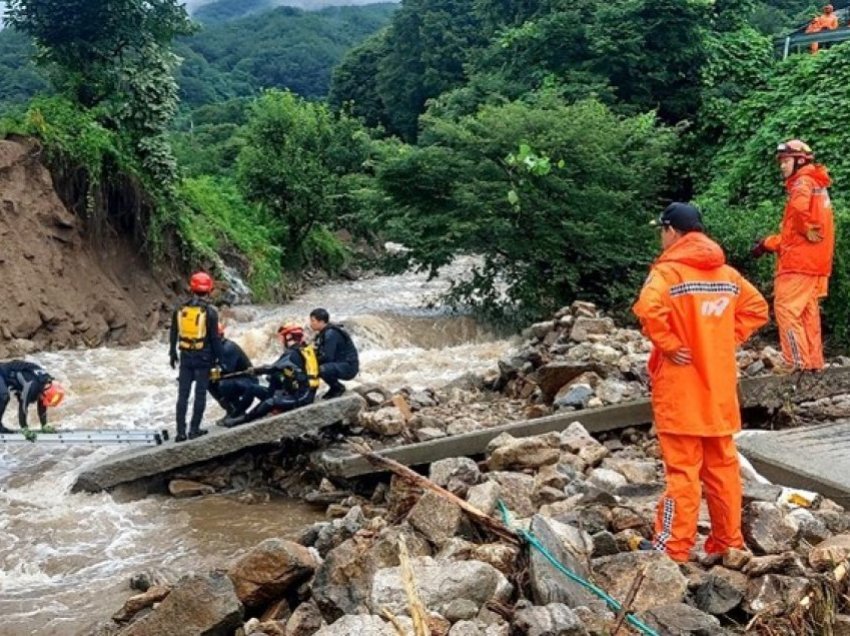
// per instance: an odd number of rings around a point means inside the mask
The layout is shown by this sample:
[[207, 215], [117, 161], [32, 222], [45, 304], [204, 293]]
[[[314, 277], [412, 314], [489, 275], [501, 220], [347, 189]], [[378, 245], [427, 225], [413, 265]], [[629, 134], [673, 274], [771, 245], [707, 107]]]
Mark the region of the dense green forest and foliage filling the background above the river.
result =
[[[388, 267], [435, 272], [478, 255], [449, 300], [493, 320], [524, 323], [576, 298], [620, 310], [657, 253], [650, 220], [675, 199], [699, 204], [733, 264], [769, 289], [770, 263], [748, 251], [781, 218], [776, 144], [801, 137], [835, 182], [827, 324], [850, 344], [850, 45], [782, 60], [773, 41], [816, 15], [811, 2], [404, 0], [279, 8], [194, 34], [175, 3], [133, 56], [88, 66], [40, 28], [55, 16], [10, 4], [16, 31], [0, 50], [15, 38], [32, 52], [22, 34], [34, 38], [43, 70], [21, 72], [50, 77], [53, 96], [6, 130], [40, 135], [92, 174], [136, 175], [155, 201], [149, 235], [176, 232], [190, 259], [238, 262], [260, 297], [302, 267], [342, 267], [346, 230], [403, 243]], [[142, 23], [153, 10], [95, 5]], [[113, 36], [96, 35], [109, 51]], [[128, 88], [127, 64], [172, 88]]]

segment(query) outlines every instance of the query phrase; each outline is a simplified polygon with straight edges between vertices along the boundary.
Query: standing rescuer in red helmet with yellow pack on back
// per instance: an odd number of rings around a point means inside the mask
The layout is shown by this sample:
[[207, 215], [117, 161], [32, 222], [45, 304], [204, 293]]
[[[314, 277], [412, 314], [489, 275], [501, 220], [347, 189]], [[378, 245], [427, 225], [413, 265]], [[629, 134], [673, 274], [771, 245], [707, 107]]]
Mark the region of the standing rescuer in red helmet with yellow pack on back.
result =
[[[180, 364], [177, 390], [177, 436], [175, 442], [184, 442], [189, 393], [195, 385], [195, 400], [188, 439], [206, 435], [201, 420], [207, 406], [207, 389], [210, 370], [221, 359], [221, 336], [218, 329], [218, 312], [209, 302], [213, 279], [206, 272], [196, 272], [189, 279], [192, 298], [174, 310], [171, 317], [169, 357], [171, 368]], [[178, 356], [179, 352], [179, 356]]]

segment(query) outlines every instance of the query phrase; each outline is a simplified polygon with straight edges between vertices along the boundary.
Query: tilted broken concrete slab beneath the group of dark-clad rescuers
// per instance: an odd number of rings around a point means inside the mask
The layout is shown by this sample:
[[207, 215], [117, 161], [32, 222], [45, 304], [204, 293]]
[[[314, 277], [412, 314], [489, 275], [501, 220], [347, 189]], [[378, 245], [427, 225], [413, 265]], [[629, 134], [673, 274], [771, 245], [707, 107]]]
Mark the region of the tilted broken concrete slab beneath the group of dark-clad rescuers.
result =
[[99, 492], [245, 448], [275, 444], [283, 438], [315, 432], [335, 422], [353, 421], [364, 405], [363, 398], [350, 395], [317, 402], [235, 428], [213, 428], [208, 435], [188, 442], [168, 442], [161, 446], [118, 453], [81, 472], [72, 490]]

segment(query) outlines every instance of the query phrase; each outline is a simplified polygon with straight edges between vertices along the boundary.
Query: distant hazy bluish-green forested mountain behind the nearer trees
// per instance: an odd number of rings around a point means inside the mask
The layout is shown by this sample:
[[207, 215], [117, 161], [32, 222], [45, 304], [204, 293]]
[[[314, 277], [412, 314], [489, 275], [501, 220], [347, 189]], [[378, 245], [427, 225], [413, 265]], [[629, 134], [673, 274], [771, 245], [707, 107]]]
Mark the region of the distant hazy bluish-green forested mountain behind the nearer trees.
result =
[[[280, 7], [272, 0], [219, 0], [204, 5], [191, 34], [174, 52], [182, 110], [265, 88], [288, 88], [311, 99], [328, 93], [331, 71], [355, 44], [389, 20], [396, 5], [329, 7], [321, 11]], [[264, 10], [265, 8], [265, 10]], [[0, 106], [24, 104], [48, 90], [46, 69], [32, 60], [31, 38], [0, 31]]]

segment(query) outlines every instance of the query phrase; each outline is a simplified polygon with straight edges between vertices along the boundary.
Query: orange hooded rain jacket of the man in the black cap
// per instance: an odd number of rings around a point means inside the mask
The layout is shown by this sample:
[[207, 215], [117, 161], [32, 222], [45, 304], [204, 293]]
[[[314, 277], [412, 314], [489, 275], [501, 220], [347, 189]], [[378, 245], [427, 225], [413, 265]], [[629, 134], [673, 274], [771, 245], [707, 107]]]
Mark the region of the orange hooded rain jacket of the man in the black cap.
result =
[[[652, 341], [649, 374], [659, 433], [721, 436], [741, 429], [735, 350], [767, 322], [762, 295], [726, 265], [720, 246], [690, 232], [652, 265], [633, 307]], [[693, 362], [668, 355], [687, 347]]]

